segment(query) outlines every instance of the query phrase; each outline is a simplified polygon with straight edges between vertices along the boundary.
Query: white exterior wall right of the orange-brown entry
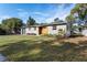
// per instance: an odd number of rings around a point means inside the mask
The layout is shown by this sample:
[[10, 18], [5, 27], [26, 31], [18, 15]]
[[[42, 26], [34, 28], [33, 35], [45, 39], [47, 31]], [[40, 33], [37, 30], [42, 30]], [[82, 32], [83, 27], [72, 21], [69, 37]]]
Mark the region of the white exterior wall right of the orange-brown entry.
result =
[[48, 28], [48, 34], [58, 34], [58, 30], [63, 29], [66, 33], [67, 26], [66, 25], [56, 25], [56, 30], [53, 30], [53, 26], [47, 26]]

